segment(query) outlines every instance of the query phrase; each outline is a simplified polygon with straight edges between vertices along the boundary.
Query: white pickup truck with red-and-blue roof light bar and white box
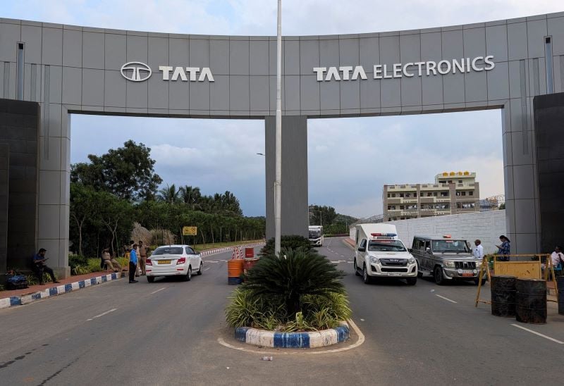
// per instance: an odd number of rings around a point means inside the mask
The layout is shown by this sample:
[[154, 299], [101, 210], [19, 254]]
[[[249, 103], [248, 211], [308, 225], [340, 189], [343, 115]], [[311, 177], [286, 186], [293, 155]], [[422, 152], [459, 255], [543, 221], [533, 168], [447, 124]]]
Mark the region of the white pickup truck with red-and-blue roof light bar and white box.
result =
[[396, 225], [358, 224], [355, 235], [355, 275], [366, 284], [373, 278], [405, 279], [417, 283], [417, 261], [398, 239]]

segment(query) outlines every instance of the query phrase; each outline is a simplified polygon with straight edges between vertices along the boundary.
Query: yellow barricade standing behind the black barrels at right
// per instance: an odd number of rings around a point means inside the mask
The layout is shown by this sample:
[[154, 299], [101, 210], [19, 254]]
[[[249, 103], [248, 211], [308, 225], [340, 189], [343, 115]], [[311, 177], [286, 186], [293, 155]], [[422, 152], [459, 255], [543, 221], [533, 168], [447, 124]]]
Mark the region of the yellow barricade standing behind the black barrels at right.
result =
[[[509, 259], [517, 259], [513, 261], [499, 261], [499, 258], [509, 257]], [[549, 254], [515, 254], [515, 255], [486, 255], [482, 259], [482, 266], [479, 269], [479, 280], [478, 280], [478, 290], [476, 294], [475, 306], [478, 303], [491, 304], [489, 300], [480, 299], [480, 292], [482, 290], [482, 276], [484, 276], [484, 271], [488, 275], [488, 280], [491, 282], [491, 272], [489, 269], [489, 260], [492, 259], [494, 263], [494, 273], [496, 275], [509, 275], [515, 276], [516, 278], [530, 278], [530, 279], [544, 279], [548, 282], [548, 271], [552, 273], [552, 281], [554, 282], [554, 288], [556, 289], [556, 278], [554, 277], [554, 267], [552, 264], [551, 255]], [[546, 262], [544, 264], [544, 275], [543, 275], [543, 260]], [[544, 277], [543, 277], [544, 276]], [[548, 299], [548, 301], [555, 301], [553, 299]], [[558, 301], [558, 291], [556, 292], [556, 301]]]

